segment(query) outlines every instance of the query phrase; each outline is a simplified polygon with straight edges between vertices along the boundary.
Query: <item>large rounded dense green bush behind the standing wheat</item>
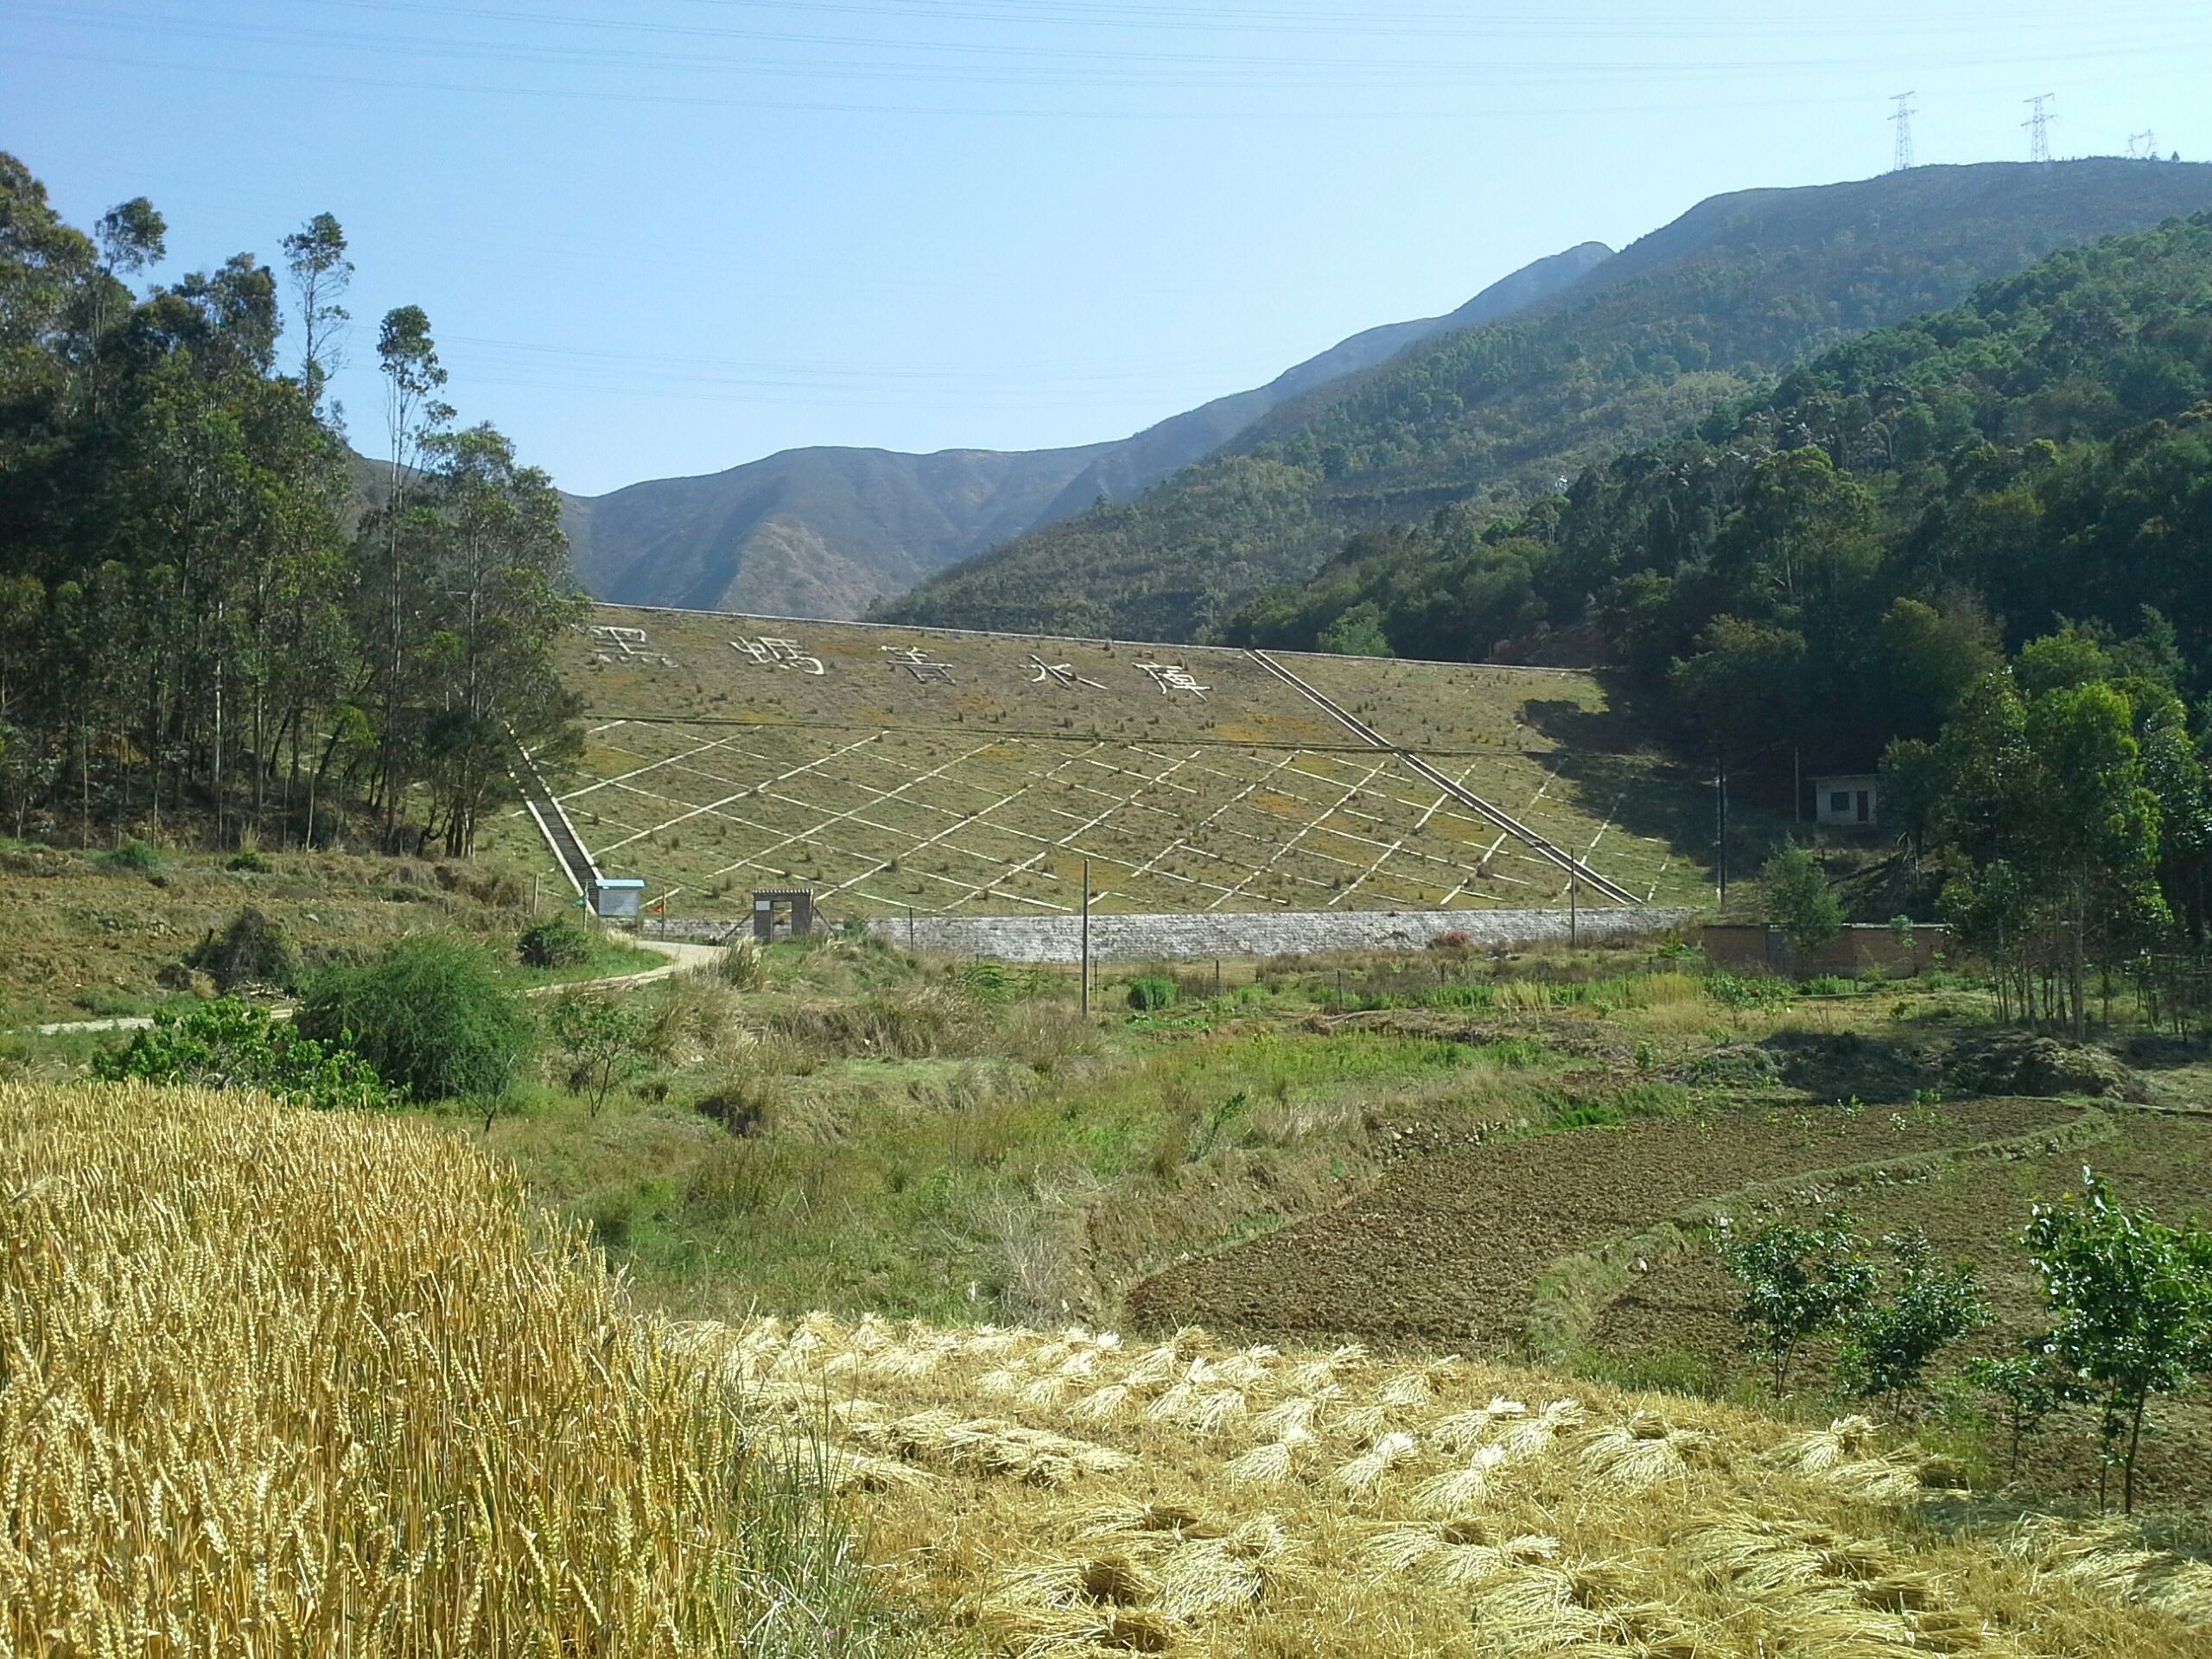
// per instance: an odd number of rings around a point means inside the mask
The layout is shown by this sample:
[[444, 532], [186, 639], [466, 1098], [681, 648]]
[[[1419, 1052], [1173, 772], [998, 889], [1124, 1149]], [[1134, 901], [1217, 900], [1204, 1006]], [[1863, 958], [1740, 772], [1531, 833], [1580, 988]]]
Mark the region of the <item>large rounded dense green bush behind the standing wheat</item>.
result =
[[529, 1011], [480, 949], [409, 938], [365, 967], [316, 975], [301, 1035], [345, 1042], [416, 1099], [495, 1099], [531, 1051]]

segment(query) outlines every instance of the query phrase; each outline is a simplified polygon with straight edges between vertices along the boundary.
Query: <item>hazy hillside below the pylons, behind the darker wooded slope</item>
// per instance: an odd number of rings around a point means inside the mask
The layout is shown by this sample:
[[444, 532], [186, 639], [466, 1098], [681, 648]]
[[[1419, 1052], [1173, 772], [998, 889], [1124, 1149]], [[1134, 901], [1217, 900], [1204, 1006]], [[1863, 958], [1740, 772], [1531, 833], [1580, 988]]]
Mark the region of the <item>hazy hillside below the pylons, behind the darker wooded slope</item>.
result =
[[1433, 336], [1325, 407], [1292, 400], [1148, 495], [984, 553], [878, 615], [1188, 639], [1356, 531], [1447, 504], [1513, 511], [1827, 345], [2208, 206], [2212, 166], [2146, 161], [1714, 197], [1551, 301]]

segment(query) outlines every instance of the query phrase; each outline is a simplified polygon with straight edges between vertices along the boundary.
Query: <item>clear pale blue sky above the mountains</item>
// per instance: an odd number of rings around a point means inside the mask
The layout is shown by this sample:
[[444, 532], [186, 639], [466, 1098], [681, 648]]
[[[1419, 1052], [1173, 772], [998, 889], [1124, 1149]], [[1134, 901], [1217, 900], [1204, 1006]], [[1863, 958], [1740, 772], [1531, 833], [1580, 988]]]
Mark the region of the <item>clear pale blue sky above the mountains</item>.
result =
[[1091, 442], [1692, 201], [1918, 159], [2212, 159], [2212, 7], [9, 0], [0, 148], [157, 276], [319, 210], [374, 325], [582, 493], [812, 442]]

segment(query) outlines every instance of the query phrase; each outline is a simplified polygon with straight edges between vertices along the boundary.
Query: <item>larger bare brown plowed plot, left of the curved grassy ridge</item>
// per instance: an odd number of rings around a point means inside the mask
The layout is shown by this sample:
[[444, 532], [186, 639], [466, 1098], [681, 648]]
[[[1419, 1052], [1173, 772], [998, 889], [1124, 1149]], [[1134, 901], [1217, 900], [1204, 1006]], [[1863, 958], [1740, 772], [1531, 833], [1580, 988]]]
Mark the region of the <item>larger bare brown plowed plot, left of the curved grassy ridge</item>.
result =
[[1498, 1349], [1559, 1256], [1721, 1192], [1973, 1146], [2070, 1121], [2051, 1099], [1889, 1113], [1728, 1110], [1577, 1128], [1402, 1164], [1283, 1232], [1177, 1263], [1128, 1296], [1130, 1323]]

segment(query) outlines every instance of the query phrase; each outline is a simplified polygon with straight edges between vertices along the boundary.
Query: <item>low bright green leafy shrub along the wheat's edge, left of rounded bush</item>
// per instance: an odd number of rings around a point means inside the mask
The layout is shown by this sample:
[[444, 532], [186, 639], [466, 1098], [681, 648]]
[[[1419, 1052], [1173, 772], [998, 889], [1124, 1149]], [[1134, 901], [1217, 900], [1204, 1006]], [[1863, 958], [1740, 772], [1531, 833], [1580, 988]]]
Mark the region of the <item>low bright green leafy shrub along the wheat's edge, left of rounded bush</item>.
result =
[[265, 1011], [223, 998], [204, 1002], [181, 1020], [155, 1015], [122, 1048], [93, 1053], [93, 1075], [119, 1082], [192, 1088], [261, 1088], [301, 1106], [396, 1106], [405, 1088], [389, 1088], [376, 1068], [343, 1044], [305, 1037]]

